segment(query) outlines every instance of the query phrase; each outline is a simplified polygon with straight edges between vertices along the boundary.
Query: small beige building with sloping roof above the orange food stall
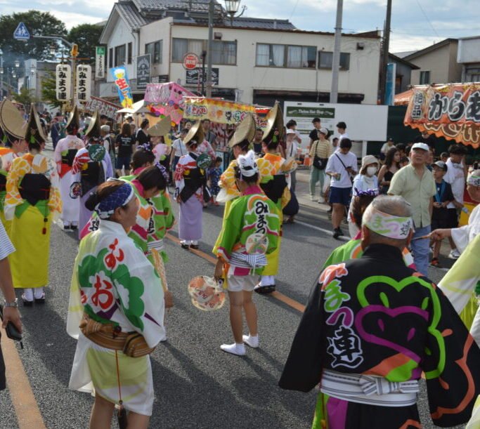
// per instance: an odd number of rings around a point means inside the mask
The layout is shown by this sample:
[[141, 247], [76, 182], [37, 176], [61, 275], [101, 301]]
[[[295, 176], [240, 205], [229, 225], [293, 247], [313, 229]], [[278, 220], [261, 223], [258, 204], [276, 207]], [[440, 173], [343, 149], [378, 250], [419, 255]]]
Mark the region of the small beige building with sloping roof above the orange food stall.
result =
[[450, 84], [462, 81], [462, 65], [457, 62], [457, 53], [458, 40], [445, 39], [403, 56], [403, 60], [419, 67], [412, 70], [411, 84]]

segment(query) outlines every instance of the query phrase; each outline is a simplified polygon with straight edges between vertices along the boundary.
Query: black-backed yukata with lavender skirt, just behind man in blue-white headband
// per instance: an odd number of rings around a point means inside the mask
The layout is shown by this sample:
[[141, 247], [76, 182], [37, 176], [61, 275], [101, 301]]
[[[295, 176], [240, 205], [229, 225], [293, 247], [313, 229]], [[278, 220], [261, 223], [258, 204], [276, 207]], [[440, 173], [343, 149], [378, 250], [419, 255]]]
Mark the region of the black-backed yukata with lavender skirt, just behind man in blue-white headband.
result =
[[80, 185], [80, 213], [79, 213], [79, 237], [81, 230], [89, 222], [91, 211], [86, 208], [85, 202], [91, 192], [95, 192], [108, 178], [113, 177], [113, 167], [110, 157], [105, 153], [101, 161], [92, 161], [89, 149], [82, 147], [74, 157], [72, 165], [73, 180]]

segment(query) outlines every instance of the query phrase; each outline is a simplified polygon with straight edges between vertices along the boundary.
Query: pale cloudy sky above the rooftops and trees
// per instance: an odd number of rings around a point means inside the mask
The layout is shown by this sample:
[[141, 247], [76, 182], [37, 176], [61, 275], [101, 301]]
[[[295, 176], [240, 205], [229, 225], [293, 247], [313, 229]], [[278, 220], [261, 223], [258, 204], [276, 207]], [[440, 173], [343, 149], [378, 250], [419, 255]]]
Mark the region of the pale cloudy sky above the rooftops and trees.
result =
[[[221, 4], [223, 1], [219, 0]], [[0, 0], [0, 14], [30, 9], [53, 13], [67, 28], [108, 18], [114, 0]], [[288, 19], [297, 28], [333, 32], [337, 0], [241, 0], [244, 16]], [[448, 37], [480, 35], [478, 0], [393, 0], [390, 52], [416, 51]], [[280, 6], [280, 7], [279, 7]], [[382, 29], [387, 0], [344, 0], [342, 31]]]

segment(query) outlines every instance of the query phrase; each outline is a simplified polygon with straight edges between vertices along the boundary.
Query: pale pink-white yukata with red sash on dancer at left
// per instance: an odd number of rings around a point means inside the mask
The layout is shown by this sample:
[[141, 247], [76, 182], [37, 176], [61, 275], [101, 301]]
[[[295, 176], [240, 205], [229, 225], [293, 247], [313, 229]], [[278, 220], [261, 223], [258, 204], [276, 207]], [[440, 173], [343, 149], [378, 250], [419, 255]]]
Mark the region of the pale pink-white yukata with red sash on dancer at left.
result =
[[63, 202], [63, 225], [78, 225], [80, 205], [77, 197], [70, 192], [74, 180], [72, 165], [75, 155], [85, 147], [84, 142], [77, 136], [67, 136], [58, 141], [55, 147], [54, 159], [57, 163], [58, 176], [60, 176], [60, 195]]

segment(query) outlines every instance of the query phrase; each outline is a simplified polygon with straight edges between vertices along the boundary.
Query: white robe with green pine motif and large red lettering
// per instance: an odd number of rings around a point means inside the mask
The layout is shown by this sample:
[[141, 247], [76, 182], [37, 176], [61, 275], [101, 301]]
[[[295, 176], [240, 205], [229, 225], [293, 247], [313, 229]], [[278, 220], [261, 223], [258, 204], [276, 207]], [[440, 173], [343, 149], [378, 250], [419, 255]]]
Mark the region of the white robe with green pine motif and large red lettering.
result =
[[78, 340], [69, 388], [82, 392], [94, 388], [115, 404], [120, 388], [125, 409], [150, 416], [150, 356], [129, 357], [93, 343], [79, 329], [84, 313], [123, 332], [138, 332], [150, 348], [165, 338], [162, 282], [119, 223], [100, 220], [98, 230], [80, 242], [67, 316], [67, 333]]

